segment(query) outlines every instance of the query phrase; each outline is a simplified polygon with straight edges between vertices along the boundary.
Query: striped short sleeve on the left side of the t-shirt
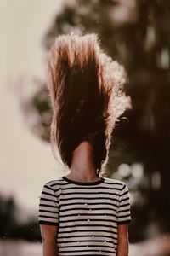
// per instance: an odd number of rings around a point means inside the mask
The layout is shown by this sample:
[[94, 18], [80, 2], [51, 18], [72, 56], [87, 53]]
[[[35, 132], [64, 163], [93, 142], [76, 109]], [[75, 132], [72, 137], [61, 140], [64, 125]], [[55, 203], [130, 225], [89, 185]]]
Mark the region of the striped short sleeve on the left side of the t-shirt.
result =
[[59, 203], [54, 189], [47, 183], [43, 186], [39, 201], [38, 223], [58, 225]]

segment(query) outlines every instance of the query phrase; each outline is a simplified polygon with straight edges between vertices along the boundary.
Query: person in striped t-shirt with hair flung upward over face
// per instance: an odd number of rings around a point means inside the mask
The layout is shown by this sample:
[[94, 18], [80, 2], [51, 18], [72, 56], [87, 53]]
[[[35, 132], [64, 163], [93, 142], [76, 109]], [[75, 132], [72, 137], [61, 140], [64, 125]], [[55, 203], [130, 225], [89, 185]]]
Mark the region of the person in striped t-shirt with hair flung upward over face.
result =
[[44, 256], [128, 255], [129, 191], [105, 177], [113, 128], [130, 108], [125, 83], [96, 34], [61, 35], [49, 49], [50, 142], [67, 173], [42, 188]]

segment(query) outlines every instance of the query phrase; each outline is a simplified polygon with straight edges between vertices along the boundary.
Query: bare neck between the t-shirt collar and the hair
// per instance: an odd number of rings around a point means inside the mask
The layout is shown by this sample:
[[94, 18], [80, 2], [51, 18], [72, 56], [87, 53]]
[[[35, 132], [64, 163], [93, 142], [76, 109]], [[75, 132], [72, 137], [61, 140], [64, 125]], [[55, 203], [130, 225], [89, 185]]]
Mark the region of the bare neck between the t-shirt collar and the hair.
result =
[[70, 173], [67, 177], [80, 182], [99, 180], [99, 175], [94, 167], [93, 148], [90, 143], [84, 141], [74, 150]]

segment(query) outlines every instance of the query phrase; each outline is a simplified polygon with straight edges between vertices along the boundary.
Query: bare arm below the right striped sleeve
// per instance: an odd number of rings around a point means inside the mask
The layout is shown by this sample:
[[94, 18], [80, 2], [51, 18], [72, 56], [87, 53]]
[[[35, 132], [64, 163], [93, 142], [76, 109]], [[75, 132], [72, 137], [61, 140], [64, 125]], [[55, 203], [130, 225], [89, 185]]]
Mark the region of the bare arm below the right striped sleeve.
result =
[[128, 225], [120, 224], [117, 228], [117, 254], [116, 256], [128, 256]]

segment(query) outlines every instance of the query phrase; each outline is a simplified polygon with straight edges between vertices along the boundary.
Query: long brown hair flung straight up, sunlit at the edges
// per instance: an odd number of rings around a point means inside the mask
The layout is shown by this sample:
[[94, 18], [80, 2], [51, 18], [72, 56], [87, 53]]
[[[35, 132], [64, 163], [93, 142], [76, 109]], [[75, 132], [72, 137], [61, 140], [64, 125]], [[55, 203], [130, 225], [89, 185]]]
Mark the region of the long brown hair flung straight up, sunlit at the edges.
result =
[[124, 68], [100, 49], [96, 34], [55, 38], [48, 52], [48, 89], [56, 159], [70, 168], [73, 151], [87, 140], [94, 149], [97, 173], [104, 173], [112, 130], [130, 106], [123, 93], [125, 82]]

